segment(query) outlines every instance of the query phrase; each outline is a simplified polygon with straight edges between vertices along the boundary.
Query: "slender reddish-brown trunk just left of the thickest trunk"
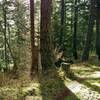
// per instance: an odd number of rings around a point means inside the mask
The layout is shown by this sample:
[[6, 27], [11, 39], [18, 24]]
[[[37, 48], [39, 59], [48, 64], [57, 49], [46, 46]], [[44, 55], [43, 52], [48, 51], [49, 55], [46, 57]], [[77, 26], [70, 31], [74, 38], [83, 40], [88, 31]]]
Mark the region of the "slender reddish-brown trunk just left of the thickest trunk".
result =
[[30, 20], [31, 20], [31, 51], [32, 51], [32, 65], [31, 76], [38, 72], [38, 49], [35, 46], [35, 30], [34, 30], [34, 0], [30, 0]]

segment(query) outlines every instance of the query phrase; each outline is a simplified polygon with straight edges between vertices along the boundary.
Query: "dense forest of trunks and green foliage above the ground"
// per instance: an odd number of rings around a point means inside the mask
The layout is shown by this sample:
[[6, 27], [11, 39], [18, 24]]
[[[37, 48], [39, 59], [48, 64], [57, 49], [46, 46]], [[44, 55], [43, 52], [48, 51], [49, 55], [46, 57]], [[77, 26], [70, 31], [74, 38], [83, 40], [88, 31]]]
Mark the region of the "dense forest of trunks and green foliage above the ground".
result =
[[28, 74], [25, 80], [33, 82], [60, 68], [68, 78], [77, 80], [73, 66], [77, 73], [82, 66], [95, 66], [100, 76], [99, 0], [0, 0], [1, 87], [9, 79], [15, 82]]

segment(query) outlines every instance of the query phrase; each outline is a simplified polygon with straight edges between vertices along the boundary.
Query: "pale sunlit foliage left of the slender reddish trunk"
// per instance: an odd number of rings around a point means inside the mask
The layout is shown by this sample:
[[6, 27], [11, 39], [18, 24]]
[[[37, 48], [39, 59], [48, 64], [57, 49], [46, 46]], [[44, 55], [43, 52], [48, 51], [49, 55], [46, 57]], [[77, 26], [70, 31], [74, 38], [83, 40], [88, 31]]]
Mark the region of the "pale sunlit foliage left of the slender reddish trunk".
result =
[[[0, 1], [0, 67], [19, 66], [28, 30], [27, 7], [23, 1]], [[23, 50], [22, 50], [23, 51]]]

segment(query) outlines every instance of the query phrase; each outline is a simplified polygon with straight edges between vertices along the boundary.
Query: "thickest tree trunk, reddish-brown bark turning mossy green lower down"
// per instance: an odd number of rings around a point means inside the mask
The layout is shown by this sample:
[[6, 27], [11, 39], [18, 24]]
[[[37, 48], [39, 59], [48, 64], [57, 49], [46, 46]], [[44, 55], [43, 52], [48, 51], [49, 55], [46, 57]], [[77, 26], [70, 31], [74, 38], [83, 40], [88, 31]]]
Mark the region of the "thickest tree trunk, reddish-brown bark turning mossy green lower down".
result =
[[43, 70], [53, 66], [51, 10], [52, 0], [41, 0], [40, 53]]

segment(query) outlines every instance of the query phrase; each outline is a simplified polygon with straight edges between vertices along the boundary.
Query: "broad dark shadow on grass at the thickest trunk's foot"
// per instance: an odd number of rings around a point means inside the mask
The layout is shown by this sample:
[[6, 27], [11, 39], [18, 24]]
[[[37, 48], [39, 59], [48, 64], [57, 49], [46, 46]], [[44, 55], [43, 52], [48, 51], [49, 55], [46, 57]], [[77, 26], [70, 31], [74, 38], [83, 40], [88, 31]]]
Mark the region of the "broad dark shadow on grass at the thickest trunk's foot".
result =
[[48, 70], [39, 77], [42, 100], [79, 100], [64, 84], [57, 70]]

